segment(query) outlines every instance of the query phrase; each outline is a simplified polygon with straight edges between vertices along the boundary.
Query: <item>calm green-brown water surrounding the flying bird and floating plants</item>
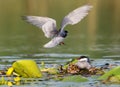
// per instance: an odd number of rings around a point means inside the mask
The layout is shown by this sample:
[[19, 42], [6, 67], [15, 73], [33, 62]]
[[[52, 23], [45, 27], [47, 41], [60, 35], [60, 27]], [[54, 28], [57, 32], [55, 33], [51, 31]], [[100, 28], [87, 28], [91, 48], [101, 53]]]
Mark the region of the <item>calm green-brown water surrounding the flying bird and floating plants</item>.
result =
[[[90, 3], [94, 6], [90, 14], [76, 25], [69, 25], [64, 46], [45, 49], [49, 41], [43, 32], [21, 19], [23, 15], [48, 16], [56, 19], [58, 28], [62, 18], [73, 9]], [[120, 60], [120, 1], [119, 0], [1, 0], [0, 1], [0, 68], [11, 66], [20, 59], [33, 59], [40, 65], [44, 61], [48, 67], [64, 64], [72, 58], [87, 55], [101, 62], [117, 63]], [[21, 87], [88, 87], [88, 83], [63, 83], [42, 81]], [[98, 83], [92, 84], [96, 87]], [[116, 85], [108, 85], [115, 87]], [[3, 87], [3, 86], [2, 86]], [[92, 86], [91, 86], [92, 87]], [[103, 84], [103, 87], [106, 85]]]

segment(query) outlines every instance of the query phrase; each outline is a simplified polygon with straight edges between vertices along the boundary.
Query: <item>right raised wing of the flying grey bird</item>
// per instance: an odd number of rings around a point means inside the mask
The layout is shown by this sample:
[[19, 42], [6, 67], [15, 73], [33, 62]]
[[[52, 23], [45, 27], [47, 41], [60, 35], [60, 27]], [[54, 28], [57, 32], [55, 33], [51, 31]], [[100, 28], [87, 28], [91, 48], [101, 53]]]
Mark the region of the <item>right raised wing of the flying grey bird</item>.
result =
[[77, 9], [73, 10], [68, 15], [66, 15], [61, 24], [61, 31], [68, 24], [74, 25], [74, 24], [77, 24], [78, 22], [80, 22], [85, 16], [87, 16], [88, 11], [91, 8], [92, 8], [91, 5], [84, 5], [82, 7], [79, 7]]

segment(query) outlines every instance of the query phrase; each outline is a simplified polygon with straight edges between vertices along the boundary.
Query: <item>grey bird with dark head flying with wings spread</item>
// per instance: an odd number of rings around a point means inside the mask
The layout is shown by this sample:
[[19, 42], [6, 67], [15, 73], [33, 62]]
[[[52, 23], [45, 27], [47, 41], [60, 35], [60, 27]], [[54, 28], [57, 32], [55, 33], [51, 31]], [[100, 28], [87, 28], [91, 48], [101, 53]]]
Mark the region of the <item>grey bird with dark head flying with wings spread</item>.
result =
[[84, 5], [70, 12], [63, 18], [60, 30], [57, 30], [56, 21], [52, 18], [23, 16], [23, 19], [42, 29], [45, 36], [51, 38], [51, 41], [45, 44], [44, 47], [52, 48], [63, 42], [64, 38], [67, 36], [68, 32], [64, 30], [65, 26], [68, 24], [74, 25], [80, 22], [85, 16], [87, 16], [88, 11], [91, 8], [91, 5]]

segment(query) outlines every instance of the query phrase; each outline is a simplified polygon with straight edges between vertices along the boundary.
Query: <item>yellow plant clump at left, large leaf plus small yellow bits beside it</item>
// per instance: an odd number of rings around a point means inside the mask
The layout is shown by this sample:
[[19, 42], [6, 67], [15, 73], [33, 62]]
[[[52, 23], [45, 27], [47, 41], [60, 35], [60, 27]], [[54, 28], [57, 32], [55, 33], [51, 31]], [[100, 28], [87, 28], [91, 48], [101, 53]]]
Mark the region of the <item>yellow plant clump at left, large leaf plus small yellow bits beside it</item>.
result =
[[[0, 85], [20, 85], [21, 77], [40, 78], [42, 73], [36, 62], [33, 60], [18, 60], [6, 70], [1, 71]], [[25, 81], [24, 81], [25, 82]]]

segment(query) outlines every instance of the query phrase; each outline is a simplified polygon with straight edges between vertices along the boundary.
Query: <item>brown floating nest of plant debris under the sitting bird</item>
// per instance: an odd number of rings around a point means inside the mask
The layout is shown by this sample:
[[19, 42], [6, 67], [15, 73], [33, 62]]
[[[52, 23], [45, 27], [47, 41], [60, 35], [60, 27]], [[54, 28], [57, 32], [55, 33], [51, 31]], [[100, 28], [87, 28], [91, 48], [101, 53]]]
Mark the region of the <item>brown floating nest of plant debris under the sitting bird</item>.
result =
[[75, 64], [68, 64], [68, 67], [66, 69], [61, 66], [59, 68], [59, 72], [61, 74], [72, 74], [72, 75], [83, 75], [83, 76], [90, 76], [90, 75], [102, 75], [104, 74], [104, 70], [102, 68], [97, 67], [91, 67], [90, 69], [86, 68], [79, 68]]

